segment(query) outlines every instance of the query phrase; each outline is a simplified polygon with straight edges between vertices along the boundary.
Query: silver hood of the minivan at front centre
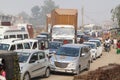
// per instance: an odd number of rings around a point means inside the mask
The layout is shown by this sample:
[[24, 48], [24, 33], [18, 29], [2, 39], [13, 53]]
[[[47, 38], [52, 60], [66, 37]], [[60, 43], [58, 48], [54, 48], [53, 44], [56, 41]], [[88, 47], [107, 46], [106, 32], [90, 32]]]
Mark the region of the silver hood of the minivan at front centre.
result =
[[51, 57], [52, 61], [58, 61], [58, 62], [72, 62], [75, 61], [77, 57], [70, 57], [70, 56], [62, 56], [62, 55], [53, 55]]

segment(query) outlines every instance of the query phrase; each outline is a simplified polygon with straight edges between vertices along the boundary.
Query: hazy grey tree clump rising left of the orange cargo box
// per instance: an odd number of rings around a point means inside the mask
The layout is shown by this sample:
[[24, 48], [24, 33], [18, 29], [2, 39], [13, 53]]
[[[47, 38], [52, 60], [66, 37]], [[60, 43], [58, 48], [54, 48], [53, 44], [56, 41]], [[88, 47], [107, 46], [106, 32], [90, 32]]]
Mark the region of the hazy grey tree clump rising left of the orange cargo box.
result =
[[58, 6], [55, 5], [54, 1], [52, 0], [45, 0], [42, 6], [34, 6], [31, 9], [32, 17], [36, 21], [35, 25], [45, 25], [46, 23], [46, 14], [51, 13], [51, 11]]

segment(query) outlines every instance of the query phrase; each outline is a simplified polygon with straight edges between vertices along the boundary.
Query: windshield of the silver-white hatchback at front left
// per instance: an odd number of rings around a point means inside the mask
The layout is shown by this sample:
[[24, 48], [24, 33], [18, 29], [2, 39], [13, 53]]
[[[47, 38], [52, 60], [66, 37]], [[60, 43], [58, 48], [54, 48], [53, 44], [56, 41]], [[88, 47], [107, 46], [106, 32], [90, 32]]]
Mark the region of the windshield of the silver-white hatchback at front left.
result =
[[25, 52], [17, 52], [18, 56], [19, 56], [19, 62], [21, 63], [25, 63], [27, 62], [30, 53], [25, 53]]

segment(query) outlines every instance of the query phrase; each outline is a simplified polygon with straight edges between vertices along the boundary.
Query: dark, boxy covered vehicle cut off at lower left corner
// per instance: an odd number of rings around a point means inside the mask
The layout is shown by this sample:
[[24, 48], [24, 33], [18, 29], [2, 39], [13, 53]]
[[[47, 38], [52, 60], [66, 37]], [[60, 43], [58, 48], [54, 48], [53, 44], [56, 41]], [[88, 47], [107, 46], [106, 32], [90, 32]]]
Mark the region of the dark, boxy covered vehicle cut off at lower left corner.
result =
[[0, 64], [6, 72], [6, 80], [20, 80], [20, 67], [15, 52], [0, 50]]

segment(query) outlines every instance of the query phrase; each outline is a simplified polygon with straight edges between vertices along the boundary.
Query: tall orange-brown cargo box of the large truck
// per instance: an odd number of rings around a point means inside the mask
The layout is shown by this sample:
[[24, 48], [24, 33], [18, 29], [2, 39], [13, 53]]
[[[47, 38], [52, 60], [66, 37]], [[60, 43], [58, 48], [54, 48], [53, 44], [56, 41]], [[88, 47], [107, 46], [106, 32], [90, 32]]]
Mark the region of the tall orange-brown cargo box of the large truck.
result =
[[77, 30], [77, 9], [54, 9], [51, 23], [54, 25], [74, 25]]

